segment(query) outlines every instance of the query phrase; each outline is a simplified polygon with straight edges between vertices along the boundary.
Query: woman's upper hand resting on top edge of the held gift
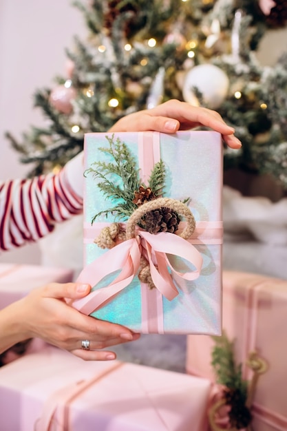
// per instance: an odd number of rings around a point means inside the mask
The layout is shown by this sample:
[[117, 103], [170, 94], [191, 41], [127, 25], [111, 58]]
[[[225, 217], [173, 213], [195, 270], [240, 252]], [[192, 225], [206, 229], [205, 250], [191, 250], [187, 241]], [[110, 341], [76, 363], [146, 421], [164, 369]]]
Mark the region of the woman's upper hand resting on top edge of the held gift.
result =
[[144, 132], [153, 130], [162, 133], [175, 133], [194, 127], [210, 127], [222, 134], [226, 145], [239, 149], [242, 144], [234, 136], [235, 130], [224, 123], [218, 112], [204, 107], [195, 107], [177, 100], [167, 101], [152, 109], [129, 114], [115, 123], [109, 132]]

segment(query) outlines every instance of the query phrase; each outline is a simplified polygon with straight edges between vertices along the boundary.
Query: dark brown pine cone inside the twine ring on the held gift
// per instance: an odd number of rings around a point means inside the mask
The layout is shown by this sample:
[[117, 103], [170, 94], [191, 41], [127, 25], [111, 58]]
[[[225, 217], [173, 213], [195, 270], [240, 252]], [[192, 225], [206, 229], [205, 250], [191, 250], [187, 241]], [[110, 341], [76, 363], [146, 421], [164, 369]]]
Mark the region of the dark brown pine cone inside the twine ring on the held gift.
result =
[[171, 208], [162, 207], [148, 211], [140, 221], [140, 227], [149, 233], [169, 232], [178, 230], [180, 216]]

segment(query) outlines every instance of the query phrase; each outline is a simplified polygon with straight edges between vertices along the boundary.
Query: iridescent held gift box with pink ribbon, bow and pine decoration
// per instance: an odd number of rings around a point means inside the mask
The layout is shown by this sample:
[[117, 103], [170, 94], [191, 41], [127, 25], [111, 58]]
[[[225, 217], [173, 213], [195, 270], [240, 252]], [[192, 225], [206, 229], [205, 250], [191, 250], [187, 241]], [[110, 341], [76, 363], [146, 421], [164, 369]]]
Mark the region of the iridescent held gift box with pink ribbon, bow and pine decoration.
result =
[[[119, 160], [111, 154], [117, 145]], [[135, 167], [127, 161], [127, 153], [135, 160]], [[153, 196], [156, 186], [151, 178], [162, 162], [165, 184], [160, 187], [159, 195]], [[113, 163], [114, 173], [106, 176], [105, 169]], [[85, 168], [85, 268], [78, 280], [89, 282], [94, 289], [74, 306], [82, 313], [123, 324], [137, 332], [219, 335], [220, 134], [191, 131], [173, 135], [87, 134]], [[139, 180], [135, 180], [137, 174]], [[138, 189], [134, 190], [137, 181]], [[107, 189], [112, 187], [110, 198]], [[115, 197], [116, 193], [123, 198]], [[184, 200], [188, 202], [185, 204]], [[120, 211], [123, 218], [113, 224]], [[176, 213], [182, 217], [180, 222]], [[171, 226], [169, 217], [174, 222]], [[175, 225], [176, 234], [172, 232]], [[114, 229], [119, 233], [115, 234]], [[110, 249], [101, 248], [98, 238], [102, 237]]]

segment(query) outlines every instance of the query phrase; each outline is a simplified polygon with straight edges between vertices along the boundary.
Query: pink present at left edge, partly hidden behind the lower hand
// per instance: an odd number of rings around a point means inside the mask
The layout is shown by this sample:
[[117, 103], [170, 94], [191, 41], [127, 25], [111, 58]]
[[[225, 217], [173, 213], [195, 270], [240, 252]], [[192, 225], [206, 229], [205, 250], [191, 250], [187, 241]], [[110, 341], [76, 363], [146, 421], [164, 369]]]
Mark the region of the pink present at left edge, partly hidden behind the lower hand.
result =
[[[67, 283], [73, 279], [73, 271], [38, 265], [0, 264], [0, 309], [27, 295], [33, 288], [48, 283]], [[0, 355], [0, 366], [19, 356], [41, 350], [45, 341], [28, 340], [19, 343]]]

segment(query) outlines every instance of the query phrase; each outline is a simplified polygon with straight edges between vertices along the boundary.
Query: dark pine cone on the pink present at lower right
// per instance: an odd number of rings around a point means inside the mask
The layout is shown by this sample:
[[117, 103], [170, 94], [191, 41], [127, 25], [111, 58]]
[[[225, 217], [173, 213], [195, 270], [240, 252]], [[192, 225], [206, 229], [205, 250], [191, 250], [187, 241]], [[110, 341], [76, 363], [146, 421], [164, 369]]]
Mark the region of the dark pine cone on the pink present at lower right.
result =
[[240, 390], [228, 390], [225, 392], [226, 404], [231, 406], [228, 412], [231, 426], [237, 430], [246, 428], [251, 423], [252, 415], [250, 410], [246, 407], [246, 398], [243, 397]]

